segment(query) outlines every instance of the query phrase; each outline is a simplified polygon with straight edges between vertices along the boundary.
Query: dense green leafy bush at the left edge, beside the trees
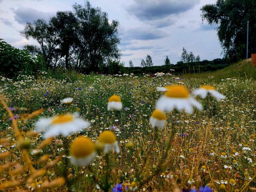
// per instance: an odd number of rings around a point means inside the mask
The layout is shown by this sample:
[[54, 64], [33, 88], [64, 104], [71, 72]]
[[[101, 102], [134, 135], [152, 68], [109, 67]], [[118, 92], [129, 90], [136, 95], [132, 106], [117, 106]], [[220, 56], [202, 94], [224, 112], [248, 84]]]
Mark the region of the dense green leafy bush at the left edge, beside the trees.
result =
[[16, 49], [0, 39], [0, 72], [6, 76], [15, 76], [19, 71], [27, 73], [44, 69], [41, 56], [32, 56], [26, 50]]

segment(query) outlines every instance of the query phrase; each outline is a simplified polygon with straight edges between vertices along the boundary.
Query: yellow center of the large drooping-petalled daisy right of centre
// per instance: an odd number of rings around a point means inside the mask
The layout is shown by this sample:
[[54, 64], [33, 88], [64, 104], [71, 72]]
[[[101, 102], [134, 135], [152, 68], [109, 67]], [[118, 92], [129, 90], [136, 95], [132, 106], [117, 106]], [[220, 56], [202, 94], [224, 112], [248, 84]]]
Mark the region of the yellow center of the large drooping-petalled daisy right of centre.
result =
[[170, 98], [188, 98], [189, 91], [183, 85], [168, 86], [165, 96]]

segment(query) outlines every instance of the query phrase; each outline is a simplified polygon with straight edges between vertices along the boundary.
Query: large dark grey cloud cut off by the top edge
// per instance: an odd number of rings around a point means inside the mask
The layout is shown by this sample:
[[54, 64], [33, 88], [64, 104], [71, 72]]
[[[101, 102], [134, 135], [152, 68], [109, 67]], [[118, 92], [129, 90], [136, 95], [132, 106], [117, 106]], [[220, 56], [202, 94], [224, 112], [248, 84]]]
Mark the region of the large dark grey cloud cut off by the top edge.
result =
[[127, 11], [140, 20], [155, 20], [186, 12], [199, 3], [200, 0], [135, 0]]

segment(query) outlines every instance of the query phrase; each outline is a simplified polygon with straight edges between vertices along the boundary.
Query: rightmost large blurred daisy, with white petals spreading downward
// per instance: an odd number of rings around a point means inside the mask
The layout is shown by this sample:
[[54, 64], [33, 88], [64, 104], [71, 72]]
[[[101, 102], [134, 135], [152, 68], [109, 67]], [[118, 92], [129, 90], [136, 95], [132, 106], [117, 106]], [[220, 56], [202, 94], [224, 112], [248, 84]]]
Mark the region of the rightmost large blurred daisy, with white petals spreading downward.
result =
[[218, 91], [215, 90], [214, 87], [209, 85], [203, 85], [200, 86], [199, 89], [196, 89], [192, 92], [195, 96], [200, 95], [202, 98], [206, 98], [208, 94], [211, 94], [213, 97], [215, 97], [218, 101], [221, 101], [221, 99], [225, 99], [226, 96], [222, 95]]

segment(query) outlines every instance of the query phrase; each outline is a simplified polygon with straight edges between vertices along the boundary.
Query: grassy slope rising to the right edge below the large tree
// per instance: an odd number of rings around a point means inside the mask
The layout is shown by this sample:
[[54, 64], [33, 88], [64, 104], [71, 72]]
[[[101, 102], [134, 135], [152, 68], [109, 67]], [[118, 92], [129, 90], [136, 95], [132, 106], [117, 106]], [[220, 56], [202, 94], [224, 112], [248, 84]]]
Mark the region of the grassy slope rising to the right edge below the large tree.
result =
[[207, 78], [208, 76], [213, 76], [214, 79], [219, 82], [221, 79], [231, 78], [231, 77], [241, 77], [246, 79], [256, 79], [256, 67], [251, 65], [250, 61], [240, 61], [231, 66], [228, 66], [224, 69], [219, 69], [217, 71], [212, 72], [204, 72], [204, 73], [197, 73], [197, 74], [187, 74], [185, 78], [197, 78], [203, 79]]

